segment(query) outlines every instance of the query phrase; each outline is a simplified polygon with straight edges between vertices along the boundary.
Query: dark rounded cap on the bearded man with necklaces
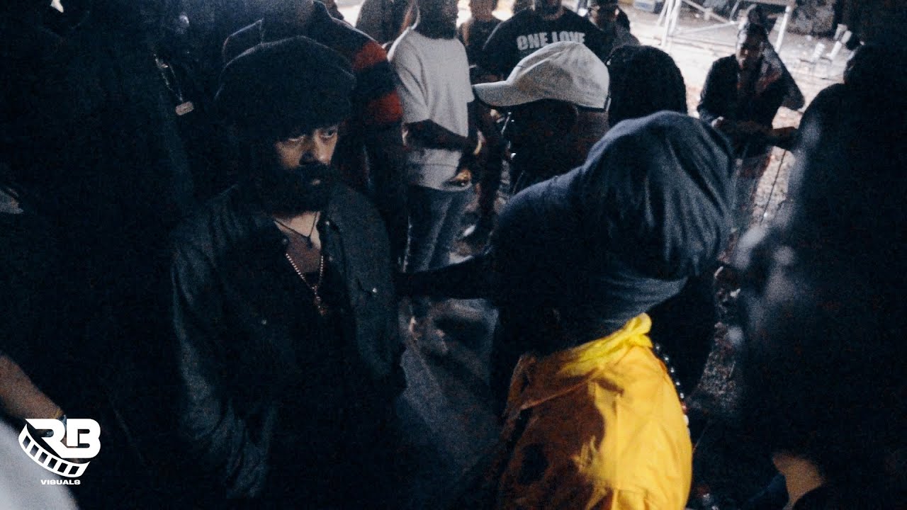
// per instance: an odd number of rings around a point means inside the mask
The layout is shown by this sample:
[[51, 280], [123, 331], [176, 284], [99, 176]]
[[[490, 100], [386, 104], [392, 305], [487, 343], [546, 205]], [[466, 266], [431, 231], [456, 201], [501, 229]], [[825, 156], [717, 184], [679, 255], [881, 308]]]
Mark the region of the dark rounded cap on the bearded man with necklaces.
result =
[[231, 60], [215, 102], [239, 132], [276, 141], [345, 120], [355, 84], [343, 56], [297, 36], [258, 44]]

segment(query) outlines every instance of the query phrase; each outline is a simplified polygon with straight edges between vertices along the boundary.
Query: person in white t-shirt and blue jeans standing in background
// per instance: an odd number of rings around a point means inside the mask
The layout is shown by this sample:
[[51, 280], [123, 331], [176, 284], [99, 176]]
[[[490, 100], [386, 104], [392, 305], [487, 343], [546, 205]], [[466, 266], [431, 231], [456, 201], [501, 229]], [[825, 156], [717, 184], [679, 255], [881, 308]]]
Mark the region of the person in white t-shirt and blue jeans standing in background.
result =
[[[406, 271], [446, 266], [472, 197], [462, 172], [482, 150], [476, 133], [466, 50], [456, 38], [456, 0], [419, 0], [418, 19], [391, 47], [407, 147], [409, 245]], [[448, 349], [430, 303], [414, 299], [410, 331], [430, 354]]]

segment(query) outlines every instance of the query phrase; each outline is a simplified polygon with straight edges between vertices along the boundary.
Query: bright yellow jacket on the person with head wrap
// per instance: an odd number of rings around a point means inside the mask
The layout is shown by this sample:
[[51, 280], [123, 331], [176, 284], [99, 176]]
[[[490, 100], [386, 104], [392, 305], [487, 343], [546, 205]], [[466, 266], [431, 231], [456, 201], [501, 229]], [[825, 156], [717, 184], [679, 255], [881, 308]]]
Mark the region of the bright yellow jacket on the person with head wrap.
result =
[[512, 444], [497, 508], [680, 510], [692, 477], [689, 431], [639, 315], [606, 338], [513, 373], [502, 439]]

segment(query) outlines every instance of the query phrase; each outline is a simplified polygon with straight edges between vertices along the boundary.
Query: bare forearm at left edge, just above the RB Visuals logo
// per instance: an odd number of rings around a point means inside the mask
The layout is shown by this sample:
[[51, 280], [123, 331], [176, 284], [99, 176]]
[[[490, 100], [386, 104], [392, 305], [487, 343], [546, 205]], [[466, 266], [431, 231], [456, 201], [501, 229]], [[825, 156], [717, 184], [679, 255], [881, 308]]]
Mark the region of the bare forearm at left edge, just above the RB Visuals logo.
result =
[[15, 360], [3, 353], [0, 353], [0, 406], [8, 416], [18, 419], [63, 416], [63, 410], [34, 386]]

